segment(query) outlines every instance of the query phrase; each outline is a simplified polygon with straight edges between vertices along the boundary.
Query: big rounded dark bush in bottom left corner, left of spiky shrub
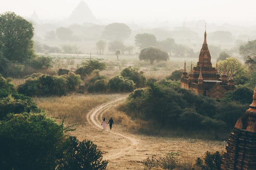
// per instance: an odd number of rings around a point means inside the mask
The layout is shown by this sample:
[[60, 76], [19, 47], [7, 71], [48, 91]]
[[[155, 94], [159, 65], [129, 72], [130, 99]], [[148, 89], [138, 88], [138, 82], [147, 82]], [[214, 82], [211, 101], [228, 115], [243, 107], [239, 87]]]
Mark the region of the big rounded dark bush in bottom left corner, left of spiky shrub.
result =
[[42, 113], [9, 114], [0, 122], [0, 167], [55, 169], [63, 124]]

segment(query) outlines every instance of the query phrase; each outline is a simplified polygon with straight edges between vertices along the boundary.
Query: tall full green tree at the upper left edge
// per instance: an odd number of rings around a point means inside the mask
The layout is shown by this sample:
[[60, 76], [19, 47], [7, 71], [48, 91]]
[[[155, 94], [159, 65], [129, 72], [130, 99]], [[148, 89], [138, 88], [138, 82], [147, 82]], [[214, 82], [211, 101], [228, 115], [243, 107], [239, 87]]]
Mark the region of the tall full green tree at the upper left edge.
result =
[[31, 22], [16, 15], [5, 12], [0, 15], [0, 53], [11, 61], [22, 62], [33, 58], [34, 28]]

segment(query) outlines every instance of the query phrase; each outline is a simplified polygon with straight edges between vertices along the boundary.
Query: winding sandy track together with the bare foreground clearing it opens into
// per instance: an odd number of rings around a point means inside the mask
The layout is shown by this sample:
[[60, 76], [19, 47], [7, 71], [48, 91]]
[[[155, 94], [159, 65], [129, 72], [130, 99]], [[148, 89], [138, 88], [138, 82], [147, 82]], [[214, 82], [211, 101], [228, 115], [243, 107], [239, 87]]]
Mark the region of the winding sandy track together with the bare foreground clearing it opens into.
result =
[[167, 153], [179, 153], [179, 163], [194, 162], [206, 151], [225, 150], [225, 141], [204, 141], [200, 139], [147, 136], [131, 134], [119, 130], [120, 125], [114, 124], [112, 130], [103, 130], [101, 126], [103, 111], [111, 109], [127, 97], [124, 95], [105, 104], [99, 105], [85, 116], [85, 124], [76, 127], [70, 135], [78, 139], [90, 139], [103, 153], [103, 159], [109, 163], [107, 170], [143, 170], [148, 157], [159, 158]]

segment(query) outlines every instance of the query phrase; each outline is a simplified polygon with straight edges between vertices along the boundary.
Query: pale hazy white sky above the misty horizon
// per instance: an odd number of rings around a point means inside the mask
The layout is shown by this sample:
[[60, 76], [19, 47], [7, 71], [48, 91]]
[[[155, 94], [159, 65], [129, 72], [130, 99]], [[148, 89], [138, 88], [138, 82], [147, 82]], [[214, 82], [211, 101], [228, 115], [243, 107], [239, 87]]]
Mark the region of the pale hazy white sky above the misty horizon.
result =
[[[63, 20], [81, 0], [1, 0], [0, 13], [13, 11], [40, 19]], [[183, 22], [256, 25], [256, 0], [85, 0], [95, 17], [109, 22]]]

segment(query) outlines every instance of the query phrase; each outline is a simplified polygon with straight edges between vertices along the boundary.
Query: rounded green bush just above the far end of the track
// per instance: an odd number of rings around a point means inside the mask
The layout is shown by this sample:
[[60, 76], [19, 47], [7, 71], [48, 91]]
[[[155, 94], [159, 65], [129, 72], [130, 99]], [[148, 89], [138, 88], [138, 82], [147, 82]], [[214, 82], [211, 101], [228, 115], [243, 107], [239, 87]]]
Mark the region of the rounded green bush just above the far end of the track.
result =
[[108, 86], [111, 92], [132, 92], [135, 88], [133, 81], [123, 76], [114, 76], [109, 80]]

